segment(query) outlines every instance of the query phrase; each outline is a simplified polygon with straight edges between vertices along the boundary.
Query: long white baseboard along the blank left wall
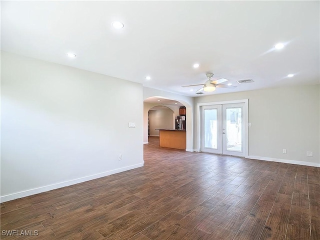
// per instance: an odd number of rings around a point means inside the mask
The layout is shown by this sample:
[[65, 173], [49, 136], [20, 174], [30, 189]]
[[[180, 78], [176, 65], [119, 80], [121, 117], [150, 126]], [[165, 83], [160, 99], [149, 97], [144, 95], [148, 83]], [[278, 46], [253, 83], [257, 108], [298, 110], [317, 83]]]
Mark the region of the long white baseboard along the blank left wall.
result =
[[41, 193], [41, 192], [44, 192], [44, 191], [49, 191], [49, 190], [57, 189], [57, 188], [60, 188], [60, 187], [69, 186], [69, 185], [73, 185], [73, 184], [76, 184], [76, 183], [93, 180], [93, 179], [100, 178], [100, 177], [103, 177], [103, 176], [112, 175], [112, 174], [119, 173], [119, 172], [122, 172], [122, 171], [131, 170], [131, 169], [143, 166], [143, 163], [144, 163], [144, 161], [142, 163], [139, 163], [139, 164], [130, 165], [130, 166], [126, 166], [126, 167], [121, 167], [121, 168], [117, 168], [117, 169], [114, 169], [114, 170], [93, 174], [93, 175], [90, 175], [90, 176], [84, 176], [84, 177], [76, 178], [76, 179], [69, 180], [69, 181], [63, 181], [63, 182], [59, 182], [59, 183], [55, 183], [55, 184], [51, 184], [51, 185], [40, 186], [40, 187], [37, 187], [37, 188], [33, 188], [33, 189], [25, 190], [25, 191], [20, 191], [20, 192], [15, 192], [15, 193], [4, 195], [4, 196], [0, 196], [0, 202], [10, 201], [10, 200], [13, 200], [13, 199], [17, 199], [17, 198], [21, 198], [21, 197], [25, 197], [25, 196], [29, 196], [29, 195], [33, 195], [33, 194], [37, 194], [37, 193]]

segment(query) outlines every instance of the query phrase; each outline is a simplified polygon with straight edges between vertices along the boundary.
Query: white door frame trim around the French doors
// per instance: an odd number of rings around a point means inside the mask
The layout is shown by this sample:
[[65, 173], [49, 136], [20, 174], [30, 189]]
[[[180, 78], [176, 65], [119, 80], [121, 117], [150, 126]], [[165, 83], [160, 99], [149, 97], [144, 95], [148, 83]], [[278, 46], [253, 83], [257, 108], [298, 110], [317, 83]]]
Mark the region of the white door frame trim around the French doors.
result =
[[215, 104], [230, 104], [230, 103], [244, 103], [243, 121], [244, 121], [244, 156], [248, 157], [248, 99], [238, 99], [238, 100], [228, 100], [228, 101], [211, 101], [211, 102], [201, 102], [196, 104], [197, 110], [197, 149], [196, 151], [201, 151], [201, 106], [215, 105]]

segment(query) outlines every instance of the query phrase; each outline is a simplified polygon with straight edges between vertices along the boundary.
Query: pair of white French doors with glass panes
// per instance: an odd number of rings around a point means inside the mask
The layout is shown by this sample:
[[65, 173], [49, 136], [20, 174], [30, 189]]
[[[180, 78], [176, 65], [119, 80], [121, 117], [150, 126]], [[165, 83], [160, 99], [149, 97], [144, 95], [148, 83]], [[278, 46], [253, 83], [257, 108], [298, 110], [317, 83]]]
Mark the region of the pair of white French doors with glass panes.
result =
[[245, 156], [245, 103], [201, 106], [201, 151]]

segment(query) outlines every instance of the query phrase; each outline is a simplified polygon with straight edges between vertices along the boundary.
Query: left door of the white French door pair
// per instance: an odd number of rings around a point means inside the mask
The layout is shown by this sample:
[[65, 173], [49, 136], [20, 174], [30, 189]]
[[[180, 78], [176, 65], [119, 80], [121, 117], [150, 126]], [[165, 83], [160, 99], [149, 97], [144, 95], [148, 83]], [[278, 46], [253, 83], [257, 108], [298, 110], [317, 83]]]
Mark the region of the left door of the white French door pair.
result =
[[222, 153], [222, 105], [201, 106], [201, 151]]

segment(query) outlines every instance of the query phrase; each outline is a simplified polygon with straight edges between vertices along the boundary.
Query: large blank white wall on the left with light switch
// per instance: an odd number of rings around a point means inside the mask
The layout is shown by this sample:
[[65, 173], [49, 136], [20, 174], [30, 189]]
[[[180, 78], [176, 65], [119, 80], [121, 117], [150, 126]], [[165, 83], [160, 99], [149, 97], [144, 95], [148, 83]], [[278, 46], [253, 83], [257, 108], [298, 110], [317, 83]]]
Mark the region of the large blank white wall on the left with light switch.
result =
[[139, 83], [1, 52], [1, 201], [142, 166], [142, 102]]

